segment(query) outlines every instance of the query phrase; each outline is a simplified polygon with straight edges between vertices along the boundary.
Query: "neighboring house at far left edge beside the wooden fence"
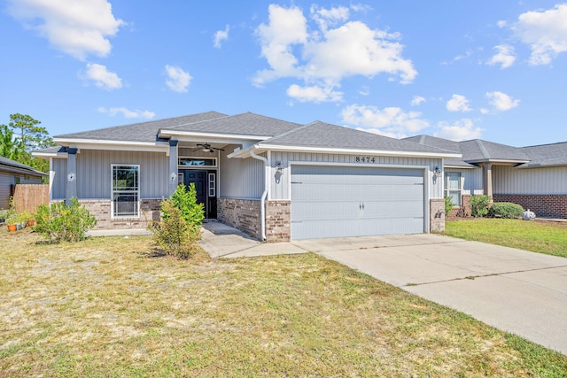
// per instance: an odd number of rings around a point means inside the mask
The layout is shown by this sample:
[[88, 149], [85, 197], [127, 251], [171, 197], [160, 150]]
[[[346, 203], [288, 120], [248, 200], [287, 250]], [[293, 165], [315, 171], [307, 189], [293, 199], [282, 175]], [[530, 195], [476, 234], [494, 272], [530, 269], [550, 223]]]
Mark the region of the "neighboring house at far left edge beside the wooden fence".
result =
[[0, 210], [10, 207], [12, 185], [41, 184], [47, 174], [10, 158], [0, 157]]

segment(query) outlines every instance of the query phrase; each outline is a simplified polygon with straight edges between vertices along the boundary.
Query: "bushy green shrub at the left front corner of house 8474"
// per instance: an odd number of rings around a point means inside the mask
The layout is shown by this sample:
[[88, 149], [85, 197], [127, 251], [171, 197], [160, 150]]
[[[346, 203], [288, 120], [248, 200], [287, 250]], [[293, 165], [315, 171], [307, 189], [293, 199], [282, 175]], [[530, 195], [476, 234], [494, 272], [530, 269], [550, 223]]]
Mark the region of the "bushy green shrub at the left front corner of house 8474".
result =
[[97, 224], [95, 217], [74, 197], [68, 206], [64, 202], [40, 205], [35, 222], [35, 232], [57, 243], [78, 242]]

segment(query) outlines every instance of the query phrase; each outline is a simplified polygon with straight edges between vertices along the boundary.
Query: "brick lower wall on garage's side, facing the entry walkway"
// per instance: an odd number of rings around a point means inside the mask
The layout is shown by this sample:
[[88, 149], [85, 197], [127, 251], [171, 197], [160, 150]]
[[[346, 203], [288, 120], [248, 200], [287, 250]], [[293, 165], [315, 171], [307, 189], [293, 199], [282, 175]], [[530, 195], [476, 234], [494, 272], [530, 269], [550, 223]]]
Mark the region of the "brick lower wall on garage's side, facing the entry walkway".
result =
[[257, 239], [261, 238], [259, 199], [219, 198], [217, 201], [218, 220]]

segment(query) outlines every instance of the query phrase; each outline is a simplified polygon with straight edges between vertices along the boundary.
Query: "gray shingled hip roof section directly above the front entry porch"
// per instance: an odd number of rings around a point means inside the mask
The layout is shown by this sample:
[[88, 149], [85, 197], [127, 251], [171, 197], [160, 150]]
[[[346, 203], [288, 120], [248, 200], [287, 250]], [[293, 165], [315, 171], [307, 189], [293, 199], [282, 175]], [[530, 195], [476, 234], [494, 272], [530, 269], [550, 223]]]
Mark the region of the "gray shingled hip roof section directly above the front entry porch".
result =
[[274, 136], [288, 132], [299, 126], [299, 123], [276, 120], [275, 118], [266, 117], [260, 114], [245, 112], [215, 120], [205, 120], [177, 127], [161, 127], [161, 129], [194, 133]]

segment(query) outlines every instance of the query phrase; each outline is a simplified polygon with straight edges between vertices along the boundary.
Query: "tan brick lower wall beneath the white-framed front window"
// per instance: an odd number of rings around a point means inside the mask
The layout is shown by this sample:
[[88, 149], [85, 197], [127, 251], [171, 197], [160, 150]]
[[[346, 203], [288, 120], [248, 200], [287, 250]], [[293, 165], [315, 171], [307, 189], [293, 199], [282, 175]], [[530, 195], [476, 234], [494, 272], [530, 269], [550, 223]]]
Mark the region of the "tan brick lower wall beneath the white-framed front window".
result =
[[139, 218], [111, 217], [111, 201], [103, 199], [82, 199], [79, 201], [97, 219], [94, 229], [111, 228], [146, 228], [151, 220], [159, 220], [160, 199], [143, 199], [140, 201]]

